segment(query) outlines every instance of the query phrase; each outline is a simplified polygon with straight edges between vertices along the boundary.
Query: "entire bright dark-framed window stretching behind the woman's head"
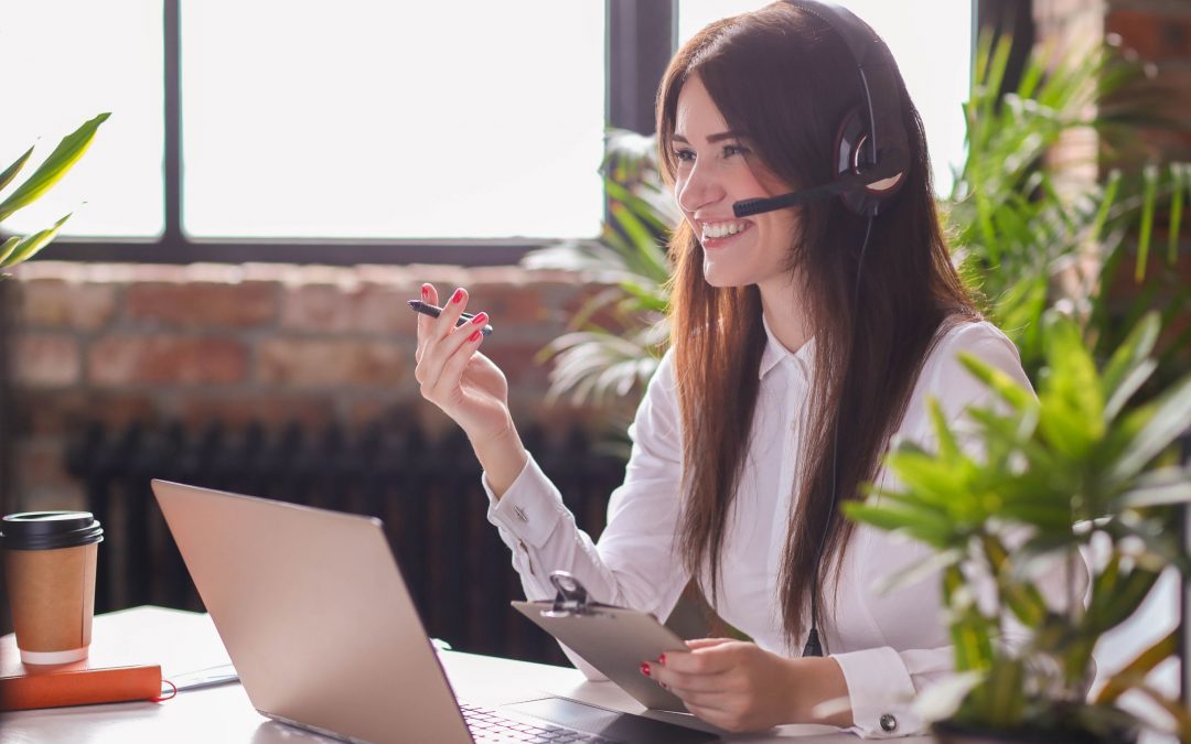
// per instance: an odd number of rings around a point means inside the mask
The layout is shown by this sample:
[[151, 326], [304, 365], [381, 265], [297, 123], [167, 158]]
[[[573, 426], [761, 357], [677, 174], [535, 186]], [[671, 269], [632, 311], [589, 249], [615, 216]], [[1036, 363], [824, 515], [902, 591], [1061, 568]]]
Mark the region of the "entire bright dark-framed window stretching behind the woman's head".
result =
[[[113, 112], [4, 227], [74, 211], [54, 258], [515, 262], [597, 233], [605, 123], [648, 127], [674, 44], [765, 1], [0, 0], [4, 164]], [[946, 192], [971, 4], [846, 5], [898, 57]]]

